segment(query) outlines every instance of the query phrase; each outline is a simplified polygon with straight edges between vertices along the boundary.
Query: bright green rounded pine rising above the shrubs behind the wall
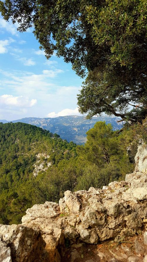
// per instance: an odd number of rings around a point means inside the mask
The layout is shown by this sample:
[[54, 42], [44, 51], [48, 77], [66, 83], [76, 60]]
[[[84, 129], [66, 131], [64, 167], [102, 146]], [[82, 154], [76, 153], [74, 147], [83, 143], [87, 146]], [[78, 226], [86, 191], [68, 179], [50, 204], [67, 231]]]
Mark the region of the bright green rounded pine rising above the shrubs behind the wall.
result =
[[111, 161], [119, 161], [119, 144], [117, 137], [113, 137], [111, 124], [97, 122], [86, 134], [87, 142], [77, 149], [81, 157], [100, 168]]

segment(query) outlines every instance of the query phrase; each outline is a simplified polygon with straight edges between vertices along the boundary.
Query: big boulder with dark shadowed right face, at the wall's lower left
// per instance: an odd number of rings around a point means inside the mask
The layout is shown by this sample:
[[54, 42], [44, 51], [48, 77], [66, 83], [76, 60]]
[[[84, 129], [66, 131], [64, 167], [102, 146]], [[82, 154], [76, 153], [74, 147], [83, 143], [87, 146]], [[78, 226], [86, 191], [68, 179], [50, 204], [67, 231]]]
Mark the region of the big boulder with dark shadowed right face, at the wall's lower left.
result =
[[[22, 225], [0, 225], [0, 235], [3, 242], [11, 249], [11, 259], [16, 262], [32, 262], [42, 256], [45, 242], [39, 231]], [[3, 245], [3, 255], [6, 261], [11, 261], [10, 249]]]

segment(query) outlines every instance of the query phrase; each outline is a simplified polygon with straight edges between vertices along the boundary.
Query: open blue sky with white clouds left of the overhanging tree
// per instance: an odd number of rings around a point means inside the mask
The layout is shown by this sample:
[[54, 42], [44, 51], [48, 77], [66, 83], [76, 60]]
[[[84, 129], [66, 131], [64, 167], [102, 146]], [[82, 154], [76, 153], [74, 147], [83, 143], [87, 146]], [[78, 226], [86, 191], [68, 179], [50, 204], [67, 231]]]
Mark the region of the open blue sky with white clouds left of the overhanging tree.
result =
[[0, 119], [80, 115], [82, 81], [63, 58], [46, 59], [32, 29], [20, 33], [0, 16]]

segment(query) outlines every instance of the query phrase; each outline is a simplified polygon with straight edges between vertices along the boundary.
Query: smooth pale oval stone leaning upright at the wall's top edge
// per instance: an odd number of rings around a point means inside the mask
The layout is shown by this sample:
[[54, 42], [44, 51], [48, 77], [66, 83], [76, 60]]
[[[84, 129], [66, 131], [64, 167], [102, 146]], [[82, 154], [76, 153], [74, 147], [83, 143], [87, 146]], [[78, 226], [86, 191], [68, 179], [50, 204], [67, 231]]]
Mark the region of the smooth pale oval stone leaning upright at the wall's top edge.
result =
[[71, 213], [78, 214], [80, 212], [81, 204], [78, 197], [72, 194], [71, 191], [67, 190], [64, 193], [64, 200]]

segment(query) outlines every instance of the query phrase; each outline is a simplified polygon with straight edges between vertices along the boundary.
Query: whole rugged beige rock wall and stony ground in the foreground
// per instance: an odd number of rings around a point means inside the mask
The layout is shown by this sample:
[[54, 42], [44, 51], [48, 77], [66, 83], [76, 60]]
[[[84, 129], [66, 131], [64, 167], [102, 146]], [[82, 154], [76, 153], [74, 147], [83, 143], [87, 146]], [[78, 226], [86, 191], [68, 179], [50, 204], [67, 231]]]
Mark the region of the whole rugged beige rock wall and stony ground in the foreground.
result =
[[0, 261], [146, 262], [146, 145], [138, 147], [135, 161], [125, 181], [68, 190], [59, 204], [28, 209], [22, 225], [1, 225]]

